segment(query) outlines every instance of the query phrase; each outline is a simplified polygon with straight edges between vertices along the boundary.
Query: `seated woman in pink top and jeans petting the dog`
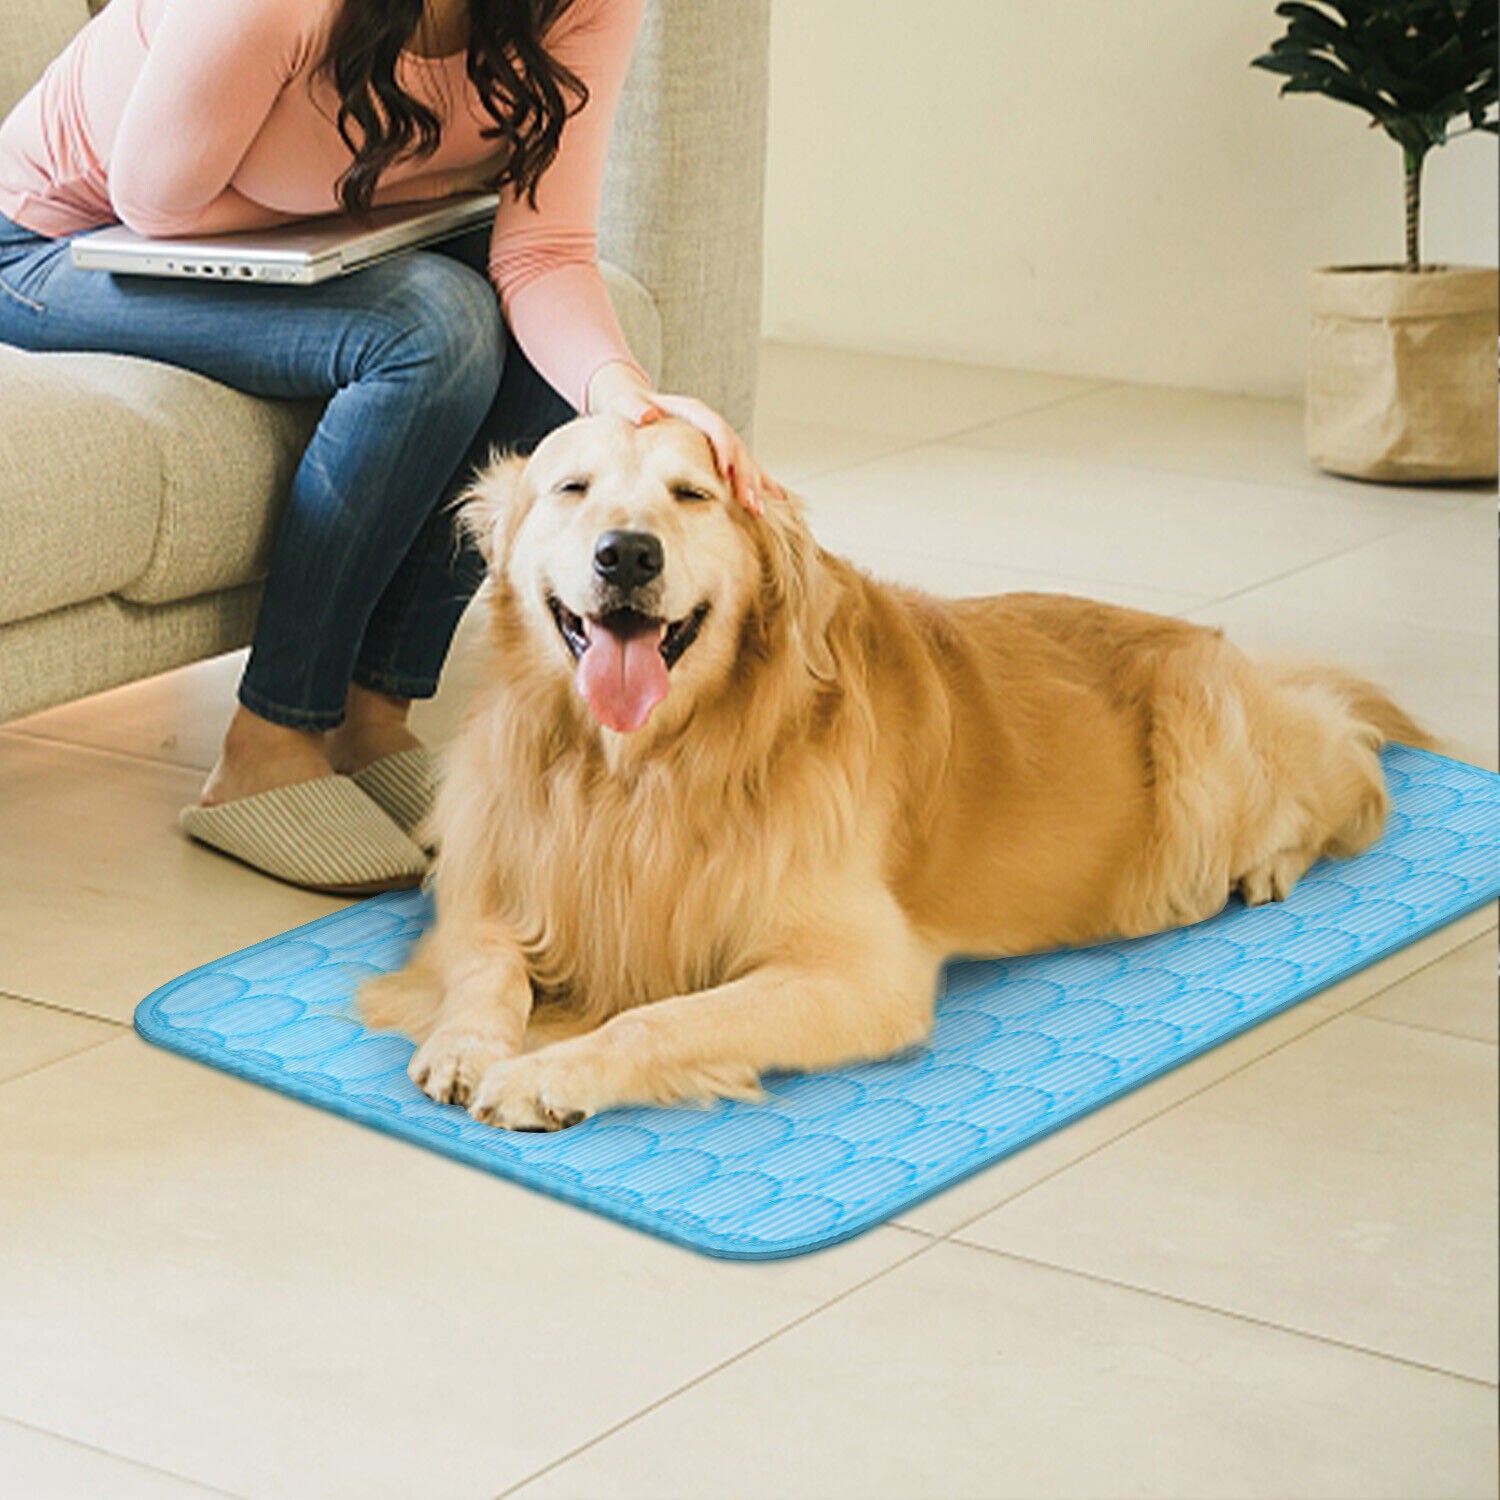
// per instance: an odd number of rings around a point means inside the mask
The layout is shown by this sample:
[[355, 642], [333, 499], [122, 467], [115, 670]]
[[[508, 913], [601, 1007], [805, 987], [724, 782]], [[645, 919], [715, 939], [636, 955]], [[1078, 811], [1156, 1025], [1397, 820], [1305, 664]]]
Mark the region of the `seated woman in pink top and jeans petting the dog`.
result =
[[[594, 252], [642, 0], [111, 0], [0, 126], [0, 342], [327, 398], [195, 837], [321, 890], [411, 885], [406, 728], [477, 582], [442, 501], [576, 410], [728, 423], [651, 388]], [[216, 234], [498, 189], [494, 231], [318, 286], [114, 278], [68, 238]], [[496, 300], [498, 292], [498, 300]], [[356, 777], [358, 780], [356, 780]]]

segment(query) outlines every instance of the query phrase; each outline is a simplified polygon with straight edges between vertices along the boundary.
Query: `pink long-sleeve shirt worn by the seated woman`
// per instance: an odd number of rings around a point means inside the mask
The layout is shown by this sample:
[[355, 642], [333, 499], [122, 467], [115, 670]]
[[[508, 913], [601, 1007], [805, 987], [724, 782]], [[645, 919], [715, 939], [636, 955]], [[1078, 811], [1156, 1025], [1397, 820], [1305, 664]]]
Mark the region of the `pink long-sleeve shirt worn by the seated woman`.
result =
[[[573, 0], [548, 51], [588, 84], [537, 207], [502, 194], [490, 279], [512, 333], [582, 408], [609, 360], [634, 363], [598, 272], [596, 225], [615, 106], [644, 0]], [[338, 94], [315, 76], [336, 0], [111, 0], [0, 126], [0, 213], [62, 236], [122, 220], [219, 234], [339, 208], [350, 165]], [[438, 150], [393, 165], [378, 204], [476, 186], [496, 144], [465, 56], [404, 52], [398, 76], [442, 122]], [[267, 213], [267, 210], [272, 210]]]

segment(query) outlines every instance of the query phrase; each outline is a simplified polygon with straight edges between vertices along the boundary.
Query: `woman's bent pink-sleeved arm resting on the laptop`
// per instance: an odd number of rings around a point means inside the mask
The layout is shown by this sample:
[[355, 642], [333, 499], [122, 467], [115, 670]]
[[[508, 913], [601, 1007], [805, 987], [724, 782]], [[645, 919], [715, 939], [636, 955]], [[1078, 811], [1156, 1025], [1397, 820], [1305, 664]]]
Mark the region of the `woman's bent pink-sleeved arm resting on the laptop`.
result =
[[230, 178], [306, 63], [316, 10], [306, 0], [168, 0], [110, 152], [122, 222], [171, 236], [294, 218], [236, 192]]

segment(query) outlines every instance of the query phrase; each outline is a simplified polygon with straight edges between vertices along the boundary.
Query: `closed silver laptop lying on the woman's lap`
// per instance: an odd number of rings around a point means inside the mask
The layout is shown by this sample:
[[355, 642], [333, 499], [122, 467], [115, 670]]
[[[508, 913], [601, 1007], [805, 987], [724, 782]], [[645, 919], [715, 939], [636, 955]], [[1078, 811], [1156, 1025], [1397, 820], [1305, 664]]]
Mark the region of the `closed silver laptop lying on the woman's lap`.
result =
[[72, 243], [74, 266], [126, 276], [312, 286], [398, 250], [489, 224], [498, 204], [495, 194], [474, 194], [436, 202], [392, 204], [376, 208], [368, 222], [330, 213], [274, 230], [184, 240], [148, 240], [117, 224], [80, 234]]

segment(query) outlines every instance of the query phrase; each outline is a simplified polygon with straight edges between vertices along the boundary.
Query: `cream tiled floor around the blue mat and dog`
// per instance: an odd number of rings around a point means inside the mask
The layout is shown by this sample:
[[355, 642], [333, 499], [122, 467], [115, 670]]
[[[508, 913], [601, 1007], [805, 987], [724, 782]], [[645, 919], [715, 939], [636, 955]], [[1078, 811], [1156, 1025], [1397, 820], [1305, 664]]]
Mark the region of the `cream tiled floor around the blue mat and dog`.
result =
[[[1496, 765], [1492, 496], [1316, 474], [1293, 404], [770, 346], [759, 452], [874, 572], [1328, 654]], [[1494, 1494], [1492, 910], [712, 1262], [128, 1030], [338, 904], [177, 836], [237, 664], [0, 729], [3, 1500]]]

